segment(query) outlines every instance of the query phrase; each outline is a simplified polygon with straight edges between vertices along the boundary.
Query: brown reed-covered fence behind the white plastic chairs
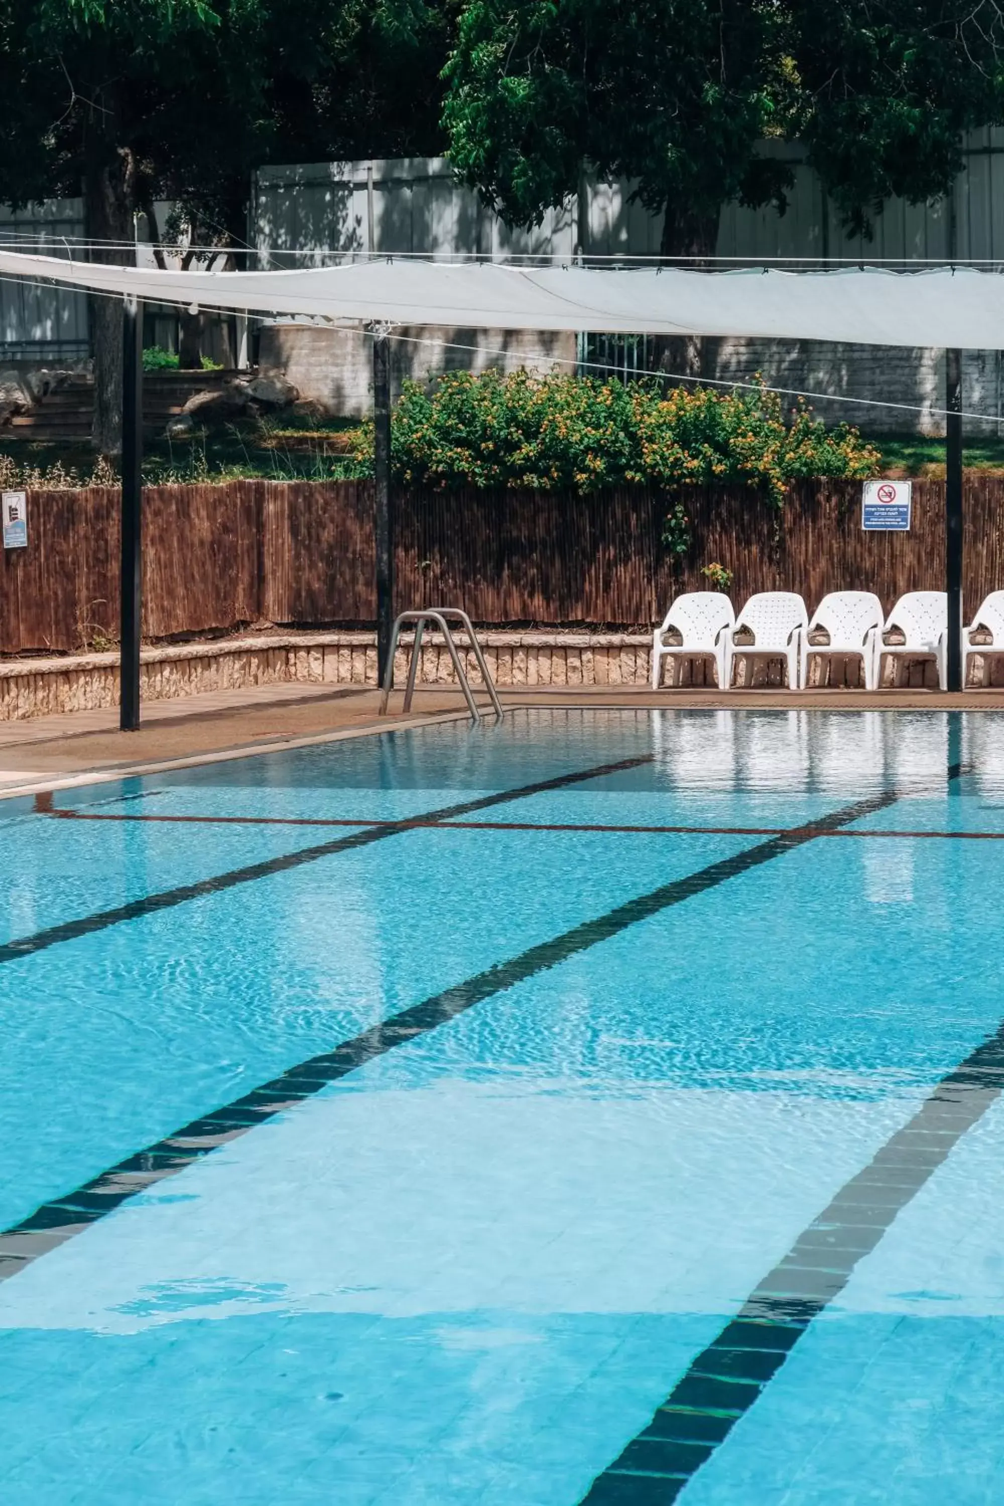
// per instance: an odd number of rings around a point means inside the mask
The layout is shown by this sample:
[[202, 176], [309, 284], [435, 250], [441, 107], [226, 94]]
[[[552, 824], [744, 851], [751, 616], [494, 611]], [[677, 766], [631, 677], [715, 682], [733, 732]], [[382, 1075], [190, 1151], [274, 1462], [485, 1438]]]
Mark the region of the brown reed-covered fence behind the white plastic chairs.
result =
[[[462, 604], [479, 622], [652, 623], [701, 568], [754, 590], [939, 589], [944, 483], [914, 488], [911, 533], [863, 533], [859, 482], [802, 482], [778, 512], [744, 488], [680, 494], [694, 547], [677, 572], [667, 494], [409, 492], [397, 500], [397, 602]], [[116, 634], [117, 492], [32, 492], [29, 548], [0, 551], [0, 652], [72, 651]], [[375, 616], [372, 494], [363, 482], [230, 482], [145, 492], [148, 637]], [[965, 601], [1004, 587], [1004, 477], [966, 486]]]

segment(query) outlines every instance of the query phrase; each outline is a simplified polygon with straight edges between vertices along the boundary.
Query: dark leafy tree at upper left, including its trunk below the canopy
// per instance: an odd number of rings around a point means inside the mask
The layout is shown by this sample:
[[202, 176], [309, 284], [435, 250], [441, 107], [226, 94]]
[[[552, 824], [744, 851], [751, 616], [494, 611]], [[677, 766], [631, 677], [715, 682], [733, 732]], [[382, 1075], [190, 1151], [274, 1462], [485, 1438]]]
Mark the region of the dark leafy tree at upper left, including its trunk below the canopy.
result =
[[[244, 242], [251, 169], [438, 145], [446, 8], [424, 0], [0, 0], [0, 200], [83, 190], [89, 241], [134, 259], [158, 197]], [[194, 233], [191, 233], [194, 232]], [[122, 310], [92, 300], [95, 444], [119, 444]]]

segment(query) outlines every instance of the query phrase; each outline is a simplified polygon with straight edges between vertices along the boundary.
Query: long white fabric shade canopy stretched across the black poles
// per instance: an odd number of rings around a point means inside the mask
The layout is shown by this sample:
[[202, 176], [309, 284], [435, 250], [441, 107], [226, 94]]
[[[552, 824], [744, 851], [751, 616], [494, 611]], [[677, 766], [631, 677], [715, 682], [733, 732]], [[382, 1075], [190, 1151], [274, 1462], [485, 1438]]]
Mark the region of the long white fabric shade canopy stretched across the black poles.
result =
[[381, 258], [297, 271], [182, 273], [0, 250], [0, 276], [339, 324], [1004, 348], [1004, 277], [968, 267], [706, 273]]

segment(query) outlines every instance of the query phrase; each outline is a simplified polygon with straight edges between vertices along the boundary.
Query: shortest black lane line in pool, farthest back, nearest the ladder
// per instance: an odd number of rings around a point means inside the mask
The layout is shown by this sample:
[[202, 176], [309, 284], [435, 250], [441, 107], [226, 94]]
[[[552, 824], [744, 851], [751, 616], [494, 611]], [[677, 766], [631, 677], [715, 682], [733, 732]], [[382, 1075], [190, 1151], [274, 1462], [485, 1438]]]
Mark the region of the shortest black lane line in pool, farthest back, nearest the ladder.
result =
[[[580, 785], [587, 779], [602, 779], [604, 774], [617, 774], [623, 770], [638, 768], [650, 764], [652, 753], [640, 758], [619, 759], [616, 764], [598, 764], [595, 768], [578, 770], [573, 774], [558, 774], [555, 779], [542, 779], [534, 785], [522, 785], [519, 789], [503, 789], [495, 795], [482, 795], [479, 800], [467, 800], [458, 806], [444, 806], [441, 810], [427, 810], [420, 819], [431, 825], [446, 821], [449, 816], [465, 816], [474, 810], [486, 810], [489, 806], [501, 806], [507, 800], [524, 800], [528, 795], [540, 795], [548, 789], [564, 789], [567, 785]], [[48, 809], [39, 815], [50, 816]], [[160, 895], [145, 895], [141, 899], [131, 899], [125, 905], [113, 910], [99, 910], [92, 916], [81, 916], [78, 920], [65, 920], [62, 925], [36, 931], [35, 935], [20, 937], [0, 946], [0, 962], [14, 962], [17, 958], [30, 956], [33, 952], [44, 952], [60, 941], [75, 941], [77, 937], [90, 935], [93, 931], [105, 931], [117, 926], [122, 920], [137, 920], [140, 916], [152, 916], [160, 910], [173, 910], [175, 905], [185, 905], [190, 899], [200, 899], [203, 895], [220, 895], [226, 889], [236, 889], [238, 884], [253, 884], [257, 878], [268, 878], [269, 873], [286, 873], [292, 867], [304, 863], [316, 863], [331, 852], [349, 852], [354, 848], [369, 846], [370, 842], [382, 842], [384, 837], [396, 837], [402, 831], [409, 831], [414, 821], [388, 821], [384, 827], [370, 827], [355, 831], [349, 837], [336, 837], [333, 842], [321, 842], [318, 846], [300, 848], [281, 857], [269, 857], [262, 863], [248, 863], [245, 867], [235, 867], [229, 873], [217, 873], [214, 878], [200, 878], [194, 884], [179, 884], [178, 889], [166, 889]]]

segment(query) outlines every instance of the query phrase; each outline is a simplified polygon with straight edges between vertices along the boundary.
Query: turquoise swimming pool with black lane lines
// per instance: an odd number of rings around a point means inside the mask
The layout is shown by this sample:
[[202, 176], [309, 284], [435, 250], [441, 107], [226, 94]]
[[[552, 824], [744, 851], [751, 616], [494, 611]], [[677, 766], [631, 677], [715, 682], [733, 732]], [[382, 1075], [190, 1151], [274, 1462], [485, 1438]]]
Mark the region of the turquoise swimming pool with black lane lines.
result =
[[999, 1501], [1002, 733], [0, 803], [5, 1506]]

